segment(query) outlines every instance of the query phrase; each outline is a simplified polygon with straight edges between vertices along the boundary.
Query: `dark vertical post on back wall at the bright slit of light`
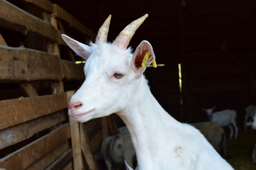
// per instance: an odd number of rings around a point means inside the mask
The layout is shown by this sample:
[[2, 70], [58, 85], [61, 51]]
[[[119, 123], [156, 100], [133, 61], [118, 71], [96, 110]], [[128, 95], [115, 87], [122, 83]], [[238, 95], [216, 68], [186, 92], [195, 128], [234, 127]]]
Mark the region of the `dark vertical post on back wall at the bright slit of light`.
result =
[[[181, 117], [187, 117], [187, 90], [186, 90], [186, 58], [185, 58], [185, 35], [184, 35], [184, 15], [183, 6], [185, 5], [183, 0], [178, 1], [179, 9], [179, 42], [180, 42], [180, 62], [181, 62], [181, 82], [182, 82], [182, 113]], [[177, 66], [178, 67], [178, 66]]]

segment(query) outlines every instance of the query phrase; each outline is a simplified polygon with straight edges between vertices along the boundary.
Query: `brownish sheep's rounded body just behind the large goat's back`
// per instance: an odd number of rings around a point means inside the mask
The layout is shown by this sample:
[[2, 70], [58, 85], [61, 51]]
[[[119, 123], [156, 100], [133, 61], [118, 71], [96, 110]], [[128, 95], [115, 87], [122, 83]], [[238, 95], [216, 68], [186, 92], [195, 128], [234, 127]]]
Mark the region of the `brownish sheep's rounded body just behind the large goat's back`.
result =
[[226, 156], [226, 136], [224, 129], [212, 121], [192, 124], [209, 141], [213, 148], [224, 158]]

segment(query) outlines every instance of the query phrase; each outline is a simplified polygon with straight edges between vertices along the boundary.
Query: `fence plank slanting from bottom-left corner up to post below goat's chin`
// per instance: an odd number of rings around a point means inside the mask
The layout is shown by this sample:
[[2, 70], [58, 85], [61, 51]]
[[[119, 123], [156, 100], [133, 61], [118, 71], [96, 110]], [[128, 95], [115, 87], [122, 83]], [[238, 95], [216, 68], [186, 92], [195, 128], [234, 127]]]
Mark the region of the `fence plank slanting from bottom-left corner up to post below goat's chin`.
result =
[[69, 123], [0, 159], [0, 167], [24, 170], [70, 138]]

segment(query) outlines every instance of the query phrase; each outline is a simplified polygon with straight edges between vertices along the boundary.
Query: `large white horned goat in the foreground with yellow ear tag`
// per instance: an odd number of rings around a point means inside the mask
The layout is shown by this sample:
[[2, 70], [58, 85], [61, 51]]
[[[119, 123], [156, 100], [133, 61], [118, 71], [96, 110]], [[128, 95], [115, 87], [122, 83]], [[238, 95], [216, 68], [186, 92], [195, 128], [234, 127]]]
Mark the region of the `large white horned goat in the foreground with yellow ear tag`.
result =
[[138, 170], [233, 170], [197, 129], [172, 118], [151, 94], [143, 72], [155, 60], [152, 46], [144, 40], [133, 54], [127, 49], [148, 15], [124, 28], [113, 44], [107, 42], [110, 17], [90, 46], [62, 35], [86, 60], [86, 79], [69, 103], [71, 118], [86, 122], [118, 114], [132, 137]]

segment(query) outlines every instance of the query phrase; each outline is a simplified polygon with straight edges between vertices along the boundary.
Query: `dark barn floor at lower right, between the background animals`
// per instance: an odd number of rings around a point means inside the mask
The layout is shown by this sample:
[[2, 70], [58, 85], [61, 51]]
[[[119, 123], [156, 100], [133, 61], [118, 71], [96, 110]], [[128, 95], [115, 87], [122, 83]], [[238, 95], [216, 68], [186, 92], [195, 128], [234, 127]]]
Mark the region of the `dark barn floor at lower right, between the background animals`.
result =
[[251, 156], [256, 143], [256, 130], [239, 126], [238, 138], [230, 140], [230, 130], [225, 128], [227, 141], [226, 160], [236, 170], [256, 170], [256, 163], [252, 162]]

